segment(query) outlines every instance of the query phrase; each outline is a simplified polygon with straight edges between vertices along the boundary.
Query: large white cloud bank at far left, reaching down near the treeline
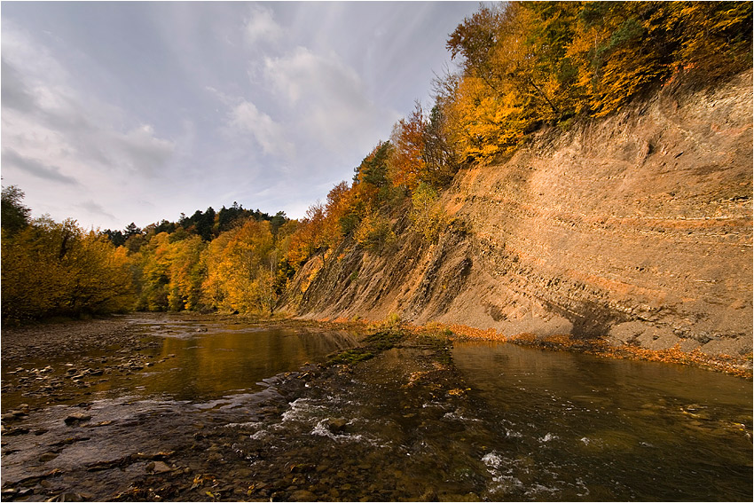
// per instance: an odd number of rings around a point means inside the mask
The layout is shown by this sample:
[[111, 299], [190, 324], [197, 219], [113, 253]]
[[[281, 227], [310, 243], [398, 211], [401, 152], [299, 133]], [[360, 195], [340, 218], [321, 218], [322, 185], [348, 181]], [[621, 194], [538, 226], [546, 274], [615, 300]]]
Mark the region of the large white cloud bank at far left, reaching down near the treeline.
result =
[[92, 213], [167, 168], [175, 144], [152, 125], [83, 92], [79, 75], [5, 19], [2, 38], [3, 74], [12, 77], [2, 89], [4, 184], [20, 185], [35, 212]]

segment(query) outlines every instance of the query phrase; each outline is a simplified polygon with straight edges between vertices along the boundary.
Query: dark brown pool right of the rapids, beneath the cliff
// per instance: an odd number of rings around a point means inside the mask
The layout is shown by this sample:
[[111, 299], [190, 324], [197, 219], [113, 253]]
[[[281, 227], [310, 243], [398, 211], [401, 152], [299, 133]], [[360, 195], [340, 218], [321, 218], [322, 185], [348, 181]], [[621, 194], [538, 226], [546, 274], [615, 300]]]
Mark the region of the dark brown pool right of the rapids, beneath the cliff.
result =
[[453, 358], [499, 433], [485, 463], [501, 499], [531, 473], [554, 499], [568, 487], [598, 500], [751, 499], [750, 381], [511, 344], [460, 343]]

